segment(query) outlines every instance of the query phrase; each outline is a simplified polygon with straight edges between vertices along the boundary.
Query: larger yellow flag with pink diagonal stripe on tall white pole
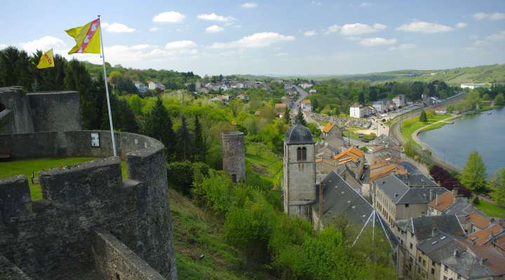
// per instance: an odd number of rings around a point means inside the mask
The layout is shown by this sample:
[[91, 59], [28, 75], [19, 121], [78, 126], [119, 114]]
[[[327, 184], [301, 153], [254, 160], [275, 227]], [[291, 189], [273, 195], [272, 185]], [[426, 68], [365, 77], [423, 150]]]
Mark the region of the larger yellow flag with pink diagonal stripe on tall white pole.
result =
[[81, 27], [65, 30], [76, 41], [72, 53], [100, 53], [100, 18]]

